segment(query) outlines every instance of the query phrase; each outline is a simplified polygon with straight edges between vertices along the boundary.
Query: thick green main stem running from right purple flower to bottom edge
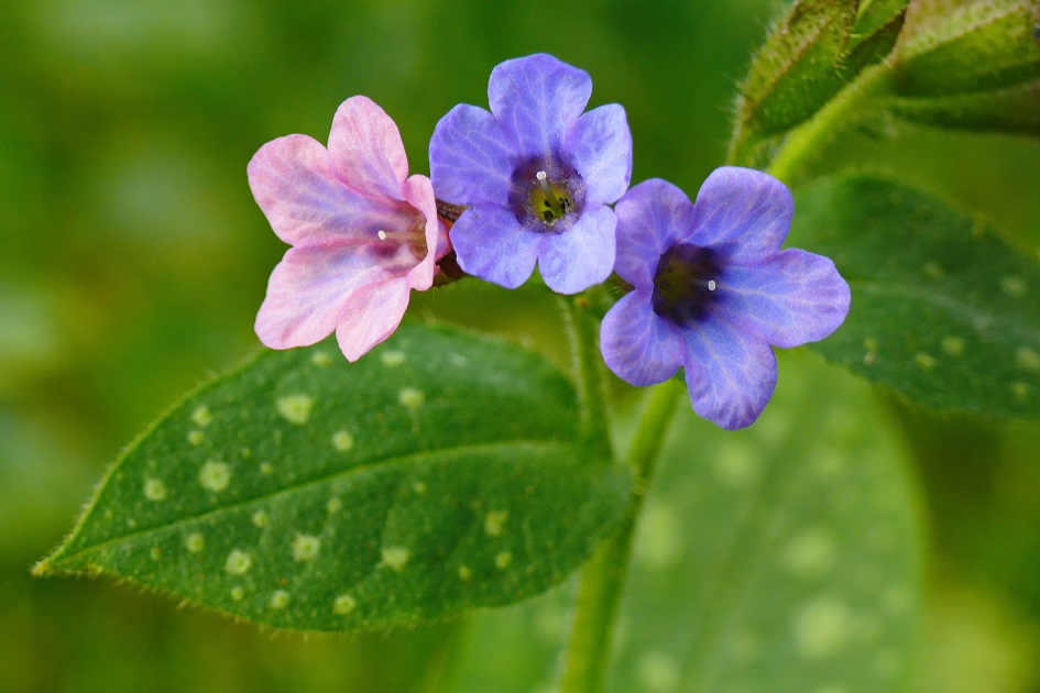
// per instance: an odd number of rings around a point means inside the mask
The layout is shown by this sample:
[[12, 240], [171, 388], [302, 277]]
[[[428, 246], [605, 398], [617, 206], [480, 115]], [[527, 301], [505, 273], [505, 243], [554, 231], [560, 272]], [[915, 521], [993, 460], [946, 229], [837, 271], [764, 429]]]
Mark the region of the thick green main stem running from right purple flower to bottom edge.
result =
[[627, 458], [635, 487], [617, 530], [581, 569], [560, 693], [596, 693], [603, 688], [636, 522], [682, 392], [675, 378], [661, 383], [650, 391], [639, 416]]

